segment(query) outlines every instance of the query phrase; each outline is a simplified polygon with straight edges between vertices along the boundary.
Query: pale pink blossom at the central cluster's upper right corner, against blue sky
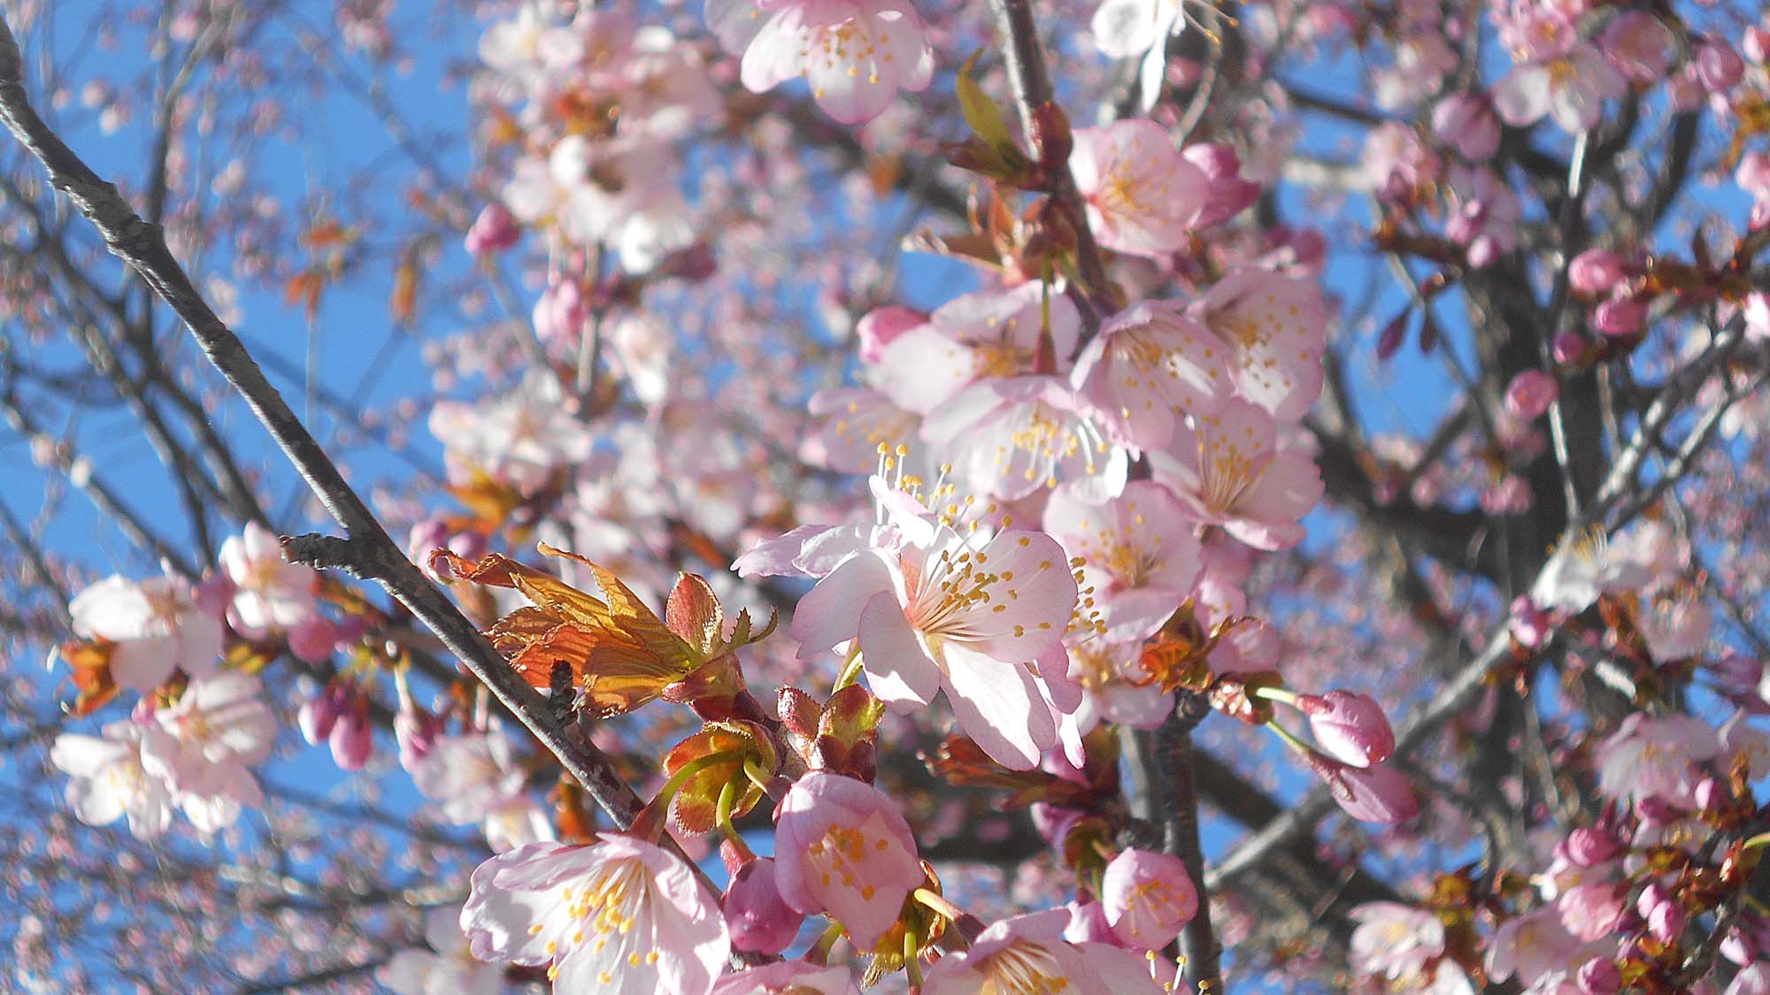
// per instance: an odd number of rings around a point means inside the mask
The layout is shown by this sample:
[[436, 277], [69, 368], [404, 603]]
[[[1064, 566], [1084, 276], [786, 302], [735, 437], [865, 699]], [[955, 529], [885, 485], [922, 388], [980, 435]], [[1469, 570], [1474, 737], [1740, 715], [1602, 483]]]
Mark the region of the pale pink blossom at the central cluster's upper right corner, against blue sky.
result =
[[1296, 421], [1320, 397], [1328, 306], [1313, 280], [1237, 269], [1186, 313], [1228, 347], [1230, 381], [1244, 400]]

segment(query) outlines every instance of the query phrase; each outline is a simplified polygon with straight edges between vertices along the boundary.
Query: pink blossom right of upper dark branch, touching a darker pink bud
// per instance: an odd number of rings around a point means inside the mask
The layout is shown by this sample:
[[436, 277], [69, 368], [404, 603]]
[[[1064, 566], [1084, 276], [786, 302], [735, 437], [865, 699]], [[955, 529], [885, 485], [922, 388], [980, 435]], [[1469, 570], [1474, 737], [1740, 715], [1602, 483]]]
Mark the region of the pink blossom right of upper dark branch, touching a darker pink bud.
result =
[[1211, 181], [1147, 119], [1078, 127], [1069, 172], [1104, 248], [1161, 258], [1186, 244]]

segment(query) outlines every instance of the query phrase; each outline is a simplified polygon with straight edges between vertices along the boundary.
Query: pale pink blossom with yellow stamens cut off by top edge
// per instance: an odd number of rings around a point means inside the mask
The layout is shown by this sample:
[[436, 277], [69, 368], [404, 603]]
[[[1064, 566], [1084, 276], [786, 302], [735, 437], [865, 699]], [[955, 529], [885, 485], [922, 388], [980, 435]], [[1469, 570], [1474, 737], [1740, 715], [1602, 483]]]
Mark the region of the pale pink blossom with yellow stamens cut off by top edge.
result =
[[743, 55], [745, 89], [804, 76], [843, 124], [873, 120], [897, 90], [920, 92], [935, 73], [927, 28], [903, 0], [708, 0], [706, 21], [726, 51]]

